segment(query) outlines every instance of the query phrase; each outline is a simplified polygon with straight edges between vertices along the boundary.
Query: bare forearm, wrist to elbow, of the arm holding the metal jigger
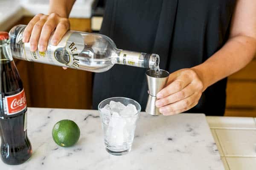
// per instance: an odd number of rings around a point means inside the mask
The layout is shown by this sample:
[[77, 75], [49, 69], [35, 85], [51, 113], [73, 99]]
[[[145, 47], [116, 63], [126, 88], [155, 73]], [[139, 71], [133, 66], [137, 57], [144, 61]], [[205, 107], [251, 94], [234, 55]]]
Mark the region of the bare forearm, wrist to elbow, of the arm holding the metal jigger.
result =
[[244, 68], [256, 54], [256, 39], [246, 36], [230, 38], [204, 63], [193, 67], [204, 84], [204, 90], [215, 82]]

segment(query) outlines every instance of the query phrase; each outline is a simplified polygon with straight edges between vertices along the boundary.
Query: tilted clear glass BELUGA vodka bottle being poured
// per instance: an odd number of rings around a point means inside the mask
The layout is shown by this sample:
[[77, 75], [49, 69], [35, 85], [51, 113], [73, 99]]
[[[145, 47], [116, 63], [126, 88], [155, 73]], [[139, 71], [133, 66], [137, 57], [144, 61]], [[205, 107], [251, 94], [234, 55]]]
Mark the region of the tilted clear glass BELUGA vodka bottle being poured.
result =
[[156, 69], [159, 66], [157, 54], [126, 51], [116, 48], [107, 36], [78, 31], [68, 31], [57, 46], [51, 45], [47, 51], [30, 51], [30, 44], [23, 43], [25, 25], [17, 25], [9, 32], [14, 58], [45, 64], [76, 68], [79, 70], [104, 72], [114, 64]]

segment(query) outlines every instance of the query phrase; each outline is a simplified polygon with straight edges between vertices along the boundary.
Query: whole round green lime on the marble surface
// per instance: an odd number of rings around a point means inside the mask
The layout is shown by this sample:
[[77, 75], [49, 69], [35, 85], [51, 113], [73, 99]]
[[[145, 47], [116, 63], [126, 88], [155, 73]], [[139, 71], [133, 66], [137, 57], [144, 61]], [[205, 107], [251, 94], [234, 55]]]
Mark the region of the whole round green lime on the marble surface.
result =
[[70, 147], [76, 144], [80, 137], [78, 125], [72, 120], [61, 120], [52, 129], [54, 142], [62, 147]]

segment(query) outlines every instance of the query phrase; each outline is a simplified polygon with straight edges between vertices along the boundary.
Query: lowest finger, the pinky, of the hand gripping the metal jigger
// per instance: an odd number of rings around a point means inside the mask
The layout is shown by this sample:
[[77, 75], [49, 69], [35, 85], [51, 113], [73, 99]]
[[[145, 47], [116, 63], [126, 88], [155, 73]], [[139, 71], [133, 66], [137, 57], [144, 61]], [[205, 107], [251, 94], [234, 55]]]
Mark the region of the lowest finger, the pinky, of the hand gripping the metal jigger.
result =
[[201, 94], [196, 92], [183, 100], [161, 107], [159, 111], [160, 113], [163, 113], [163, 115], [170, 115], [172, 113], [177, 113], [181, 110], [189, 110], [195, 105], [195, 103], [198, 103], [200, 97]]

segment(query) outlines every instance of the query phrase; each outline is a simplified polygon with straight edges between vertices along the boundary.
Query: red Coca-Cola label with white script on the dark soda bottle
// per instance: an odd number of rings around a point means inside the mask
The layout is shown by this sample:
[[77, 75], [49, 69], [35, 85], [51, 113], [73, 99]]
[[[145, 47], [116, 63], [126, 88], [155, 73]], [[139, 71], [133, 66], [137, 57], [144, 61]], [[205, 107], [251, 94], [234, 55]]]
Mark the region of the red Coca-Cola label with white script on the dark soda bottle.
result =
[[26, 108], [26, 96], [24, 89], [18, 94], [6, 96], [5, 99], [7, 115], [19, 113]]

